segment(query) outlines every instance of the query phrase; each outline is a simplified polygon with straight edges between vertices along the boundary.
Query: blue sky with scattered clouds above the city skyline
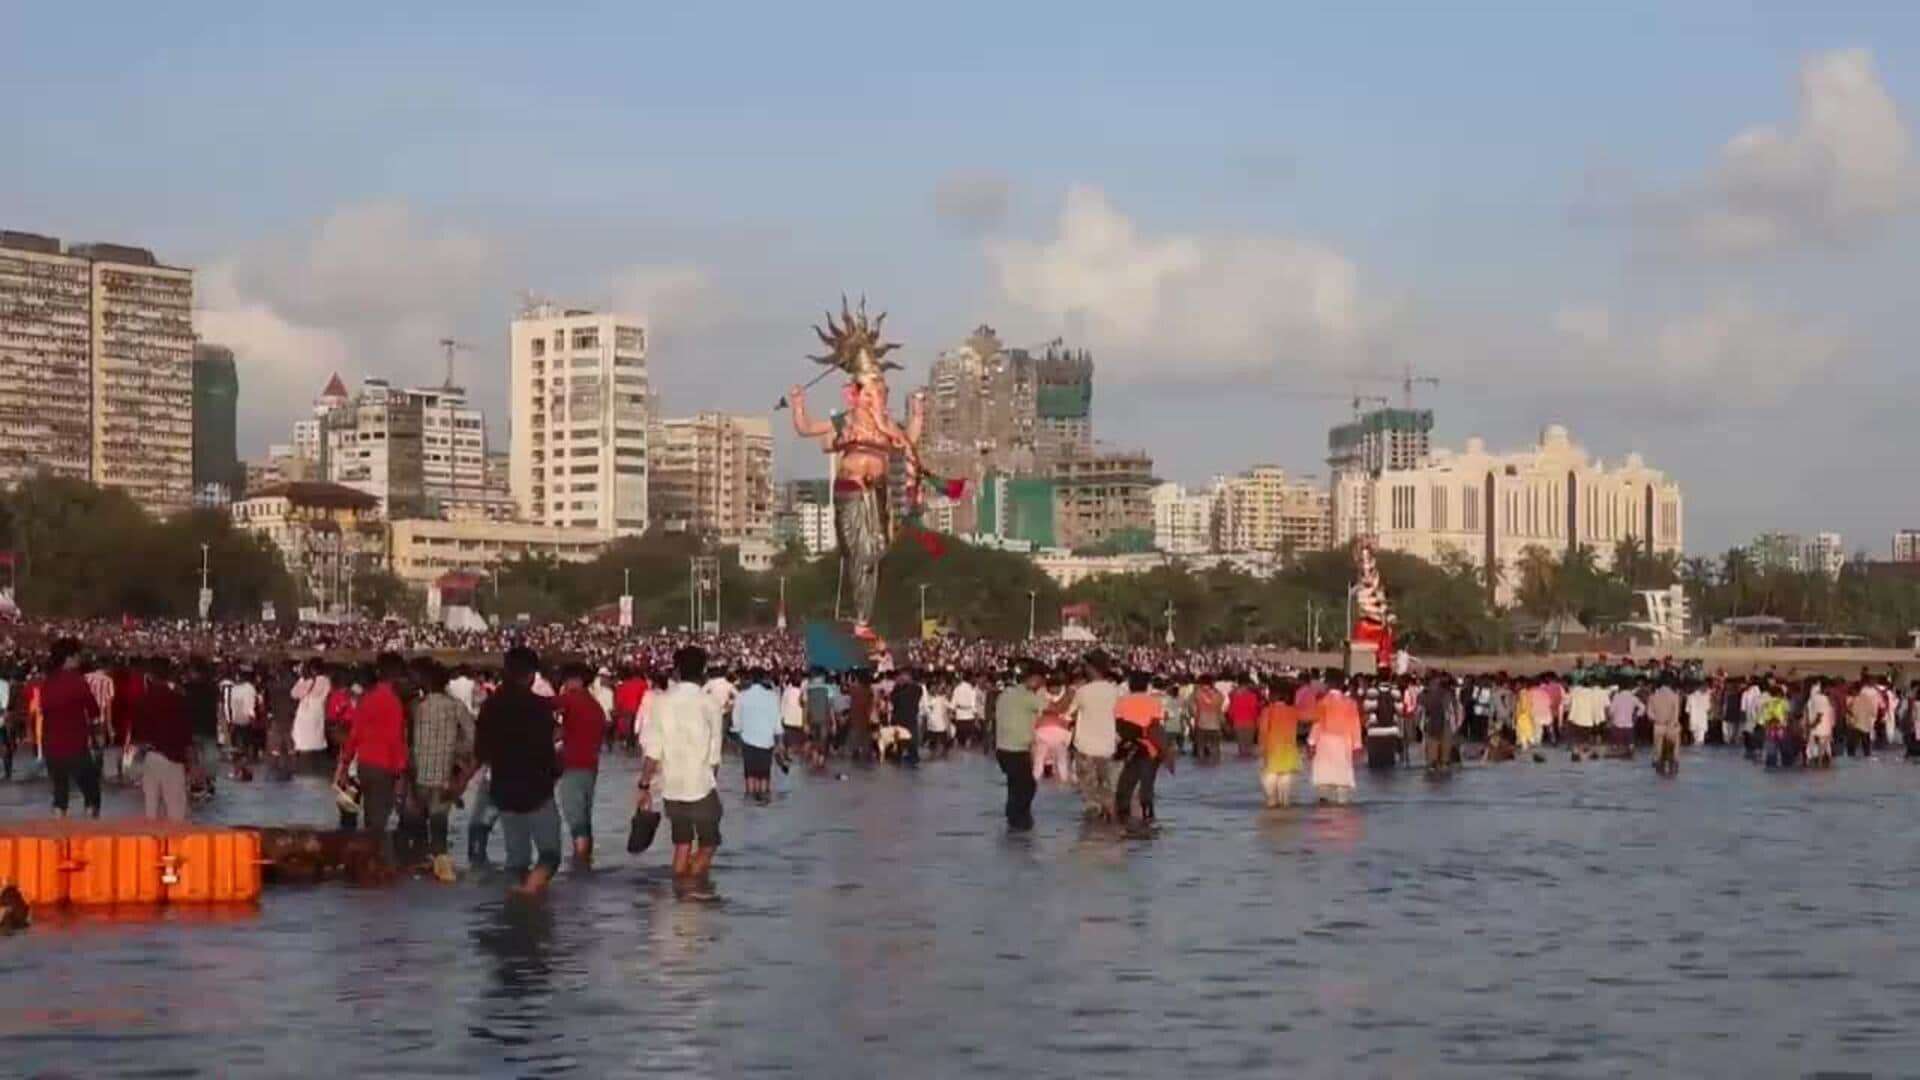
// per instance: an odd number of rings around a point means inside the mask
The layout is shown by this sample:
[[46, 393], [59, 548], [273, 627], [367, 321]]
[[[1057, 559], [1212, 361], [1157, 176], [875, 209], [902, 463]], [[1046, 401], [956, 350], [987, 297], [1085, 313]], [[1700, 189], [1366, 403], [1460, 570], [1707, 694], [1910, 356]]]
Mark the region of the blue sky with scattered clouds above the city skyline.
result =
[[1171, 480], [1323, 479], [1411, 367], [1442, 446], [1644, 454], [1693, 553], [1884, 553], [1899, 8], [0, 0], [0, 229], [194, 267], [242, 455], [445, 336], [505, 448], [526, 294], [643, 315], [668, 413], [766, 411], [847, 292], [906, 382], [979, 323], [1091, 348], [1096, 436]]

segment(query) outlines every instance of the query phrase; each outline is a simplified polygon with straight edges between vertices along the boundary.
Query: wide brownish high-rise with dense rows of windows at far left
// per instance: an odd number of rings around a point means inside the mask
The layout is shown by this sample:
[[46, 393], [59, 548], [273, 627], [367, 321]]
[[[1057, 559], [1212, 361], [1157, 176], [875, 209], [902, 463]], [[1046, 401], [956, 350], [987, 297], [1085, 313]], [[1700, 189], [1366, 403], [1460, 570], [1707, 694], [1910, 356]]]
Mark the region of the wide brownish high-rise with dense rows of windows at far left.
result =
[[156, 513], [194, 490], [194, 271], [0, 233], [0, 480], [38, 469]]

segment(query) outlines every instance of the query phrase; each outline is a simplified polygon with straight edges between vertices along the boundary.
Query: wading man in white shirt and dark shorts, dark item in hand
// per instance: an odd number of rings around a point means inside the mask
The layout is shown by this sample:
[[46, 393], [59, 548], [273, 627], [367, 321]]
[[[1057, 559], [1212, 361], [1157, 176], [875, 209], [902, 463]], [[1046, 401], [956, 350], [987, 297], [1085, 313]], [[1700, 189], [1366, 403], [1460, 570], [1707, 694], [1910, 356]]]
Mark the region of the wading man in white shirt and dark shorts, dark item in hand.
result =
[[674, 890], [689, 899], [712, 899], [714, 851], [720, 849], [720, 769], [724, 719], [712, 696], [701, 688], [707, 676], [707, 650], [682, 646], [674, 653], [676, 682], [659, 698], [641, 732], [639, 807], [660, 809], [674, 838]]

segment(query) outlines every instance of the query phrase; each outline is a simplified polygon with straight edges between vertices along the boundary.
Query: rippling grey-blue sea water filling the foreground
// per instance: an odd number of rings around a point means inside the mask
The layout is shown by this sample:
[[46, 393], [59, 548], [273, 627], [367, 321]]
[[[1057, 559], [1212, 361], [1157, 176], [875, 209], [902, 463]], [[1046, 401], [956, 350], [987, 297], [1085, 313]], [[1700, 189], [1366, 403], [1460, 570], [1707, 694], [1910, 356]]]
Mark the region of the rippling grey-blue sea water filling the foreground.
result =
[[[1284, 811], [1229, 761], [1165, 778], [1148, 836], [1046, 788], [1008, 838], [977, 759], [783, 784], [745, 807], [728, 776], [718, 903], [674, 901], [662, 844], [532, 905], [476, 876], [40, 913], [0, 940], [0, 1072], [1776, 1076], [1920, 1049], [1899, 761], [1363, 774]], [[603, 834], [628, 790], [601, 784]], [[0, 815], [44, 796], [0, 786]], [[219, 813], [330, 805], [228, 784]]]

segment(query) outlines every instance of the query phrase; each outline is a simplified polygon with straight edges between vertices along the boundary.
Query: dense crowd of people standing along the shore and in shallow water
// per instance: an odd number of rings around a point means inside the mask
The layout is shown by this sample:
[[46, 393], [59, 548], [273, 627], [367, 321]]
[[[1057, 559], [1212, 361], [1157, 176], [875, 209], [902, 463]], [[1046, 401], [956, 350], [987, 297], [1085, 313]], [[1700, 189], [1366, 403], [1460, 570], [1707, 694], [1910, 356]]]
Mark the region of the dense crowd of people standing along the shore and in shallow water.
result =
[[[785, 634], [695, 642], [568, 626], [490, 636], [493, 657], [442, 659], [426, 648], [447, 646], [438, 632], [422, 642], [397, 626], [326, 638], [255, 630], [228, 653], [182, 653], [217, 648], [223, 632], [209, 640], [184, 626], [13, 632], [12, 659], [0, 661], [0, 763], [13, 778], [31, 748], [29, 773], [44, 773], [58, 815], [75, 792], [83, 813], [98, 815], [109, 778], [136, 782], [148, 817], [186, 819], [219, 782], [330, 774], [340, 824], [374, 832], [386, 859], [453, 880], [451, 817], [465, 807], [468, 863], [490, 861], [497, 828], [505, 867], [528, 894], [547, 888], [568, 847], [591, 863], [609, 748], [639, 755], [636, 813], [659, 805], [676, 888], [689, 896], [710, 892], [726, 753], [737, 753], [756, 803], [772, 799], [776, 767], [991, 755], [1014, 832], [1033, 828], [1048, 782], [1077, 792], [1089, 821], [1150, 826], [1162, 771], [1219, 763], [1227, 748], [1258, 763], [1267, 807], [1294, 801], [1302, 774], [1311, 798], [1344, 803], [1356, 765], [1444, 774], [1465, 761], [1544, 759], [1549, 748], [1574, 761], [1649, 748], [1663, 773], [1695, 744], [1740, 746], [1768, 769], [1893, 748], [1920, 757], [1920, 682], [1870, 671], [1728, 678], [1596, 663], [1567, 675], [1346, 676], [1250, 650], [948, 640], [829, 673], [806, 667]], [[27, 651], [35, 646], [44, 651]]]

